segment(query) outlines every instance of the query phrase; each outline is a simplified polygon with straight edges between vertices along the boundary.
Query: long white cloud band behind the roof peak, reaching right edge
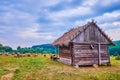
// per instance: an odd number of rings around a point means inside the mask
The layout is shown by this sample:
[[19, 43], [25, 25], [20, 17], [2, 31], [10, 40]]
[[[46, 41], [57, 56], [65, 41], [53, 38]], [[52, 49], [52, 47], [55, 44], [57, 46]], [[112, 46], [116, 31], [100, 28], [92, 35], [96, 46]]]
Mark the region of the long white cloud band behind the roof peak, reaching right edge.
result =
[[101, 16], [91, 17], [86, 20], [77, 20], [75, 21], [75, 25], [85, 24], [86, 22], [91, 21], [91, 19], [94, 19], [99, 24], [117, 21], [120, 19], [120, 10], [109, 12], [109, 13], [104, 13]]

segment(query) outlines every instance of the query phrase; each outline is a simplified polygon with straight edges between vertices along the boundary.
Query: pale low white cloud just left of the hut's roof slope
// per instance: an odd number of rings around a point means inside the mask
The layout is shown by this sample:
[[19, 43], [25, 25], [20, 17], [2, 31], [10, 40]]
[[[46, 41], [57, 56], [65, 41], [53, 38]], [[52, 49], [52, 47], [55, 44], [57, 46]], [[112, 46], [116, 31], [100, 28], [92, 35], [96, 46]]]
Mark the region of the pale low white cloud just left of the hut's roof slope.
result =
[[31, 38], [31, 39], [40, 39], [40, 40], [53, 40], [55, 37], [52, 36], [51, 32], [40, 32], [40, 27], [38, 24], [36, 24], [36, 26], [30, 27], [25, 29], [24, 31], [20, 31], [18, 33], [18, 35], [21, 38], [27, 39], [27, 38]]

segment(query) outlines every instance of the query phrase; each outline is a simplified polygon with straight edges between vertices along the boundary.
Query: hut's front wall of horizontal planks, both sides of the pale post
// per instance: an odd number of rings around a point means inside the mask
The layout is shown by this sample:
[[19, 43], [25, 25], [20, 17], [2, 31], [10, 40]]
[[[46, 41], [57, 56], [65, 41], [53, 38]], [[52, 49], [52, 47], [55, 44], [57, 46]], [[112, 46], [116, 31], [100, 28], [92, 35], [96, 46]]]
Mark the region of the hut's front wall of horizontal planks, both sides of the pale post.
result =
[[[98, 64], [98, 45], [94, 45], [94, 49], [90, 48], [91, 45], [74, 45], [74, 64], [77, 65], [93, 65]], [[109, 55], [107, 53], [107, 45], [101, 45], [101, 63], [109, 62]]]

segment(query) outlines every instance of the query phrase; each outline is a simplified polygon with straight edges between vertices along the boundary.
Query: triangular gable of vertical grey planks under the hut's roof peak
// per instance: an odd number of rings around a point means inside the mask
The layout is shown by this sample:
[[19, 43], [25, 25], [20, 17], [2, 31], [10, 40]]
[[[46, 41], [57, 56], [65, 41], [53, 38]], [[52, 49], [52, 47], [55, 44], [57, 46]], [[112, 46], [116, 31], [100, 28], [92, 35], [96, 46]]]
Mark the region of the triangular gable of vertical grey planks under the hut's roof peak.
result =
[[85, 29], [81, 34], [79, 34], [72, 42], [83, 43], [83, 42], [96, 42], [96, 43], [106, 43], [109, 44], [106, 37], [98, 30], [95, 25], [91, 25]]

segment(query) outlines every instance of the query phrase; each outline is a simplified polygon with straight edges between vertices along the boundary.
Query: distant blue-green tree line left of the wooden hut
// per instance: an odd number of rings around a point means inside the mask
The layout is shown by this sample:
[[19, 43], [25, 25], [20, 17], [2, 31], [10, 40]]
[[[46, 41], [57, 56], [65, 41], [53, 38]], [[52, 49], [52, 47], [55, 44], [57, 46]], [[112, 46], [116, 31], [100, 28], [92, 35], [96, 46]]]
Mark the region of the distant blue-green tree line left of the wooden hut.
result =
[[52, 46], [50, 44], [43, 44], [43, 45], [35, 45], [32, 47], [25, 47], [21, 48], [20, 46], [17, 47], [16, 50], [13, 50], [9, 46], [3, 46], [0, 44], [0, 52], [9, 52], [9, 53], [52, 53], [52, 54], [57, 54], [58, 53], [58, 47], [57, 46]]

